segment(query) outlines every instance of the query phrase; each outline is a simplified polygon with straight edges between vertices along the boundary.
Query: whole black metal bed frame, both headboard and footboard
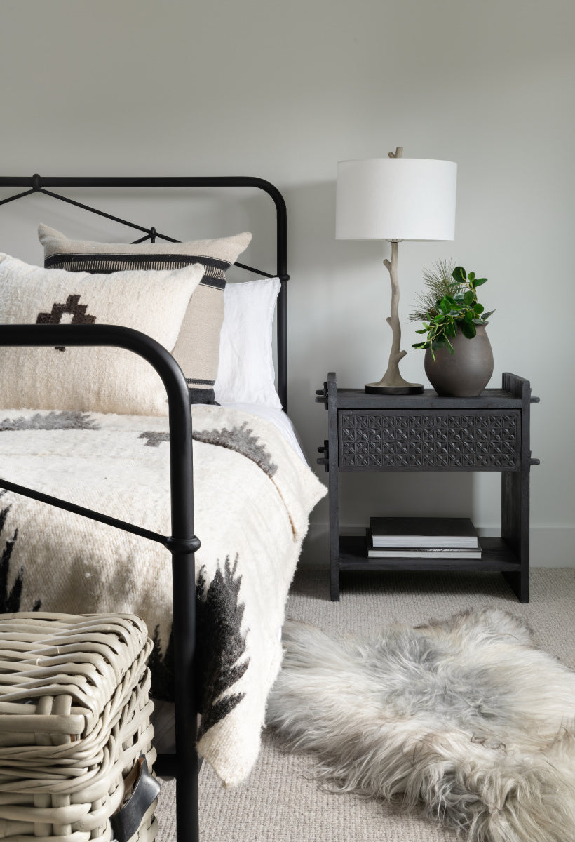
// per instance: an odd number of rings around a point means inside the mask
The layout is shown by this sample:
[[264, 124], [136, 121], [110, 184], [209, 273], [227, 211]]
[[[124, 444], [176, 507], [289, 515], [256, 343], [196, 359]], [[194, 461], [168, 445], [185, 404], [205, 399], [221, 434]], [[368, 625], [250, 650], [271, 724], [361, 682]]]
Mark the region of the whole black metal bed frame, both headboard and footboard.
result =
[[[154, 228], [112, 216], [102, 210], [84, 205], [67, 196], [53, 193], [48, 187], [58, 188], [193, 188], [193, 187], [254, 187], [264, 190], [274, 200], [277, 219], [277, 276], [280, 278], [280, 295], [277, 306], [278, 342], [278, 392], [284, 409], [287, 408], [287, 225], [285, 201], [280, 191], [264, 179], [243, 176], [216, 178], [31, 178], [0, 177], [0, 187], [25, 187], [23, 192], [0, 200], [0, 205], [34, 193], [44, 193], [69, 204], [105, 216], [130, 226], [155, 241], [156, 237], [177, 242], [173, 237], [158, 233]], [[236, 264], [250, 272], [273, 277], [245, 264]], [[139, 354], [157, 370], [168, 394], [169, 460], [171, 493], [170, 536], [162, 536], [134, 524], [117, 520], [92, 509], [69, 503], [59, 498], [25, 488], [14, 482], [0, 479], [0, 488], [23, 494], [40, 502], [55, 505], [92, 520], [133, 532], [136, 535], [159, 541], [172, 553], [173, 573], [173, 641], [174, 641], [174, 702], [176, 727], [176, 753], [160, 754], [155, 770], [158, 775], [176, 778], [176, 828], [178, 842], [199, 842], [198, 773], [200, 763], [196, 754], [196, 728], [199, 688], [194, 681], [195, 653], [195, 567], [194, 553], [200, 541], [194, 535], [194, 487], [192, 471], [192, 421], [189, 411], [189, 392], [184, 374], [172, 354], [144, 333], [114, 325], [3, 325], [0, 346], [114, 346]]]

